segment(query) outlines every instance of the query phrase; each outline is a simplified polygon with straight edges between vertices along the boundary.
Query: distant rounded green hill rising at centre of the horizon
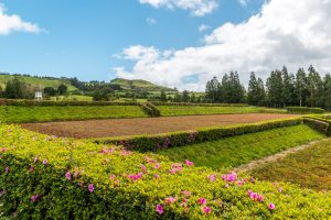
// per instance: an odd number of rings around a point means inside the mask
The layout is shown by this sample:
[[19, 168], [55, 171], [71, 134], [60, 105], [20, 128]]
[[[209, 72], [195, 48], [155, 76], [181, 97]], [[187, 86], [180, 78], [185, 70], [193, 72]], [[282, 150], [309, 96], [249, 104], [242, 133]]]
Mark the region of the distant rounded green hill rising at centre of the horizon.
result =
[[116, 78], [110, 81], [113, 85], [119, 85], [124, 90], [146, 90], [146, 91], [174, 91], [174, 89], [157, 86], [150, 81], [142, 80], [142, 79], [124, 79], [124, 78]]

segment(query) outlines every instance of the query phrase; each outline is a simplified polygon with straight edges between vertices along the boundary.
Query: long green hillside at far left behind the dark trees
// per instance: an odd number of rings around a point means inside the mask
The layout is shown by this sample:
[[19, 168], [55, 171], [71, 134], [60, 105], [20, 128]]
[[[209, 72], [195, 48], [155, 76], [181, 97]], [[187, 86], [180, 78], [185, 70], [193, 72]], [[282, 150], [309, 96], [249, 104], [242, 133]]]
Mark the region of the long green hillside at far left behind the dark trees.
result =
[[64, 84], [67, 86], [68, 91], [77, 90], [76, 87], [72, 86], [71, 82], [66, 79], [60, 78], [42, 78], [42, 77], [32, 77], [32, 76], [15, 76], [15, 75], [1, 75], [0, 74], [0, 86], [2, 88], [6, 87], [6, 82], [13, 79], [14, 77], [19, 77], [21, 80], [29, 84], [31, 87], [54, 87], [57, 88], [60, 85]]

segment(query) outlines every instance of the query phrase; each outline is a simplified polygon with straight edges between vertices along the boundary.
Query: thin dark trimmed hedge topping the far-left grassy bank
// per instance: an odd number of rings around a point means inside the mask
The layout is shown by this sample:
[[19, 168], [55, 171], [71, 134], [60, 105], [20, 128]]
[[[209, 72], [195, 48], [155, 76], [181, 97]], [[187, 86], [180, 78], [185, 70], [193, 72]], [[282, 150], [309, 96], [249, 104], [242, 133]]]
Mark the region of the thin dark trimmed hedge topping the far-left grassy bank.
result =
[[140, 106], [139, 102], [110, 102], [110, 101], [35, 101], [28, 99], [0, 99], [0, 106], [19, 107], [50, 107], [50, 106]]

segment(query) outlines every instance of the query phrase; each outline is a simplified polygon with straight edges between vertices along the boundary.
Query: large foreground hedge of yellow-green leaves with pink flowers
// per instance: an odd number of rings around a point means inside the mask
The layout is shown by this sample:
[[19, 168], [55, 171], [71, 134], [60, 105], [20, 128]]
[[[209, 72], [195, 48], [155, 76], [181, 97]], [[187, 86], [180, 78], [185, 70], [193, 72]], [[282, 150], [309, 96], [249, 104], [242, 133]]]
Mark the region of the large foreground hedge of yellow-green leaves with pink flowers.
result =
[[327, 219], [330, 215], [329, 193], [194, 167], [189, 160], [173, 163], [120, 146], [41, 135], [14, 125], [0, 125], [0, 134], [3, 216]]

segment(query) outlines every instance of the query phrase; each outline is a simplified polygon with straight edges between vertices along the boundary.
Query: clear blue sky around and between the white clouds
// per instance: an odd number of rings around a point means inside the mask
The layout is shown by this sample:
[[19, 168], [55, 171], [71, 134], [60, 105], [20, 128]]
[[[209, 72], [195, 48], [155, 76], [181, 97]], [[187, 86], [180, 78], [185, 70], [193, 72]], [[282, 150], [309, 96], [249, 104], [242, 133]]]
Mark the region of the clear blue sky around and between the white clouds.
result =
[[[110, 80], [118, 76], [115, 67], [131, 69], [136, 65], [137, 61], [114, 56], [124, 48], [200, 47], [213, 30], [226, 22], [246, 21], [264, 3], [263, 0], [250, 0], [246, 6], [237, 0], [216, 2], [218, 6], [212, 12], [196, 16], [192, 10], [154, 8], [139, 0], [0, 0], [4, 14], [19, 15], [39, 28], [39, 33], [0, 34], [0, 72]], [[200, 32], [202, 24], [207, 29]], [[183, 84], [192, 82], [195, 77], [196, 73], [184, 76]]]

